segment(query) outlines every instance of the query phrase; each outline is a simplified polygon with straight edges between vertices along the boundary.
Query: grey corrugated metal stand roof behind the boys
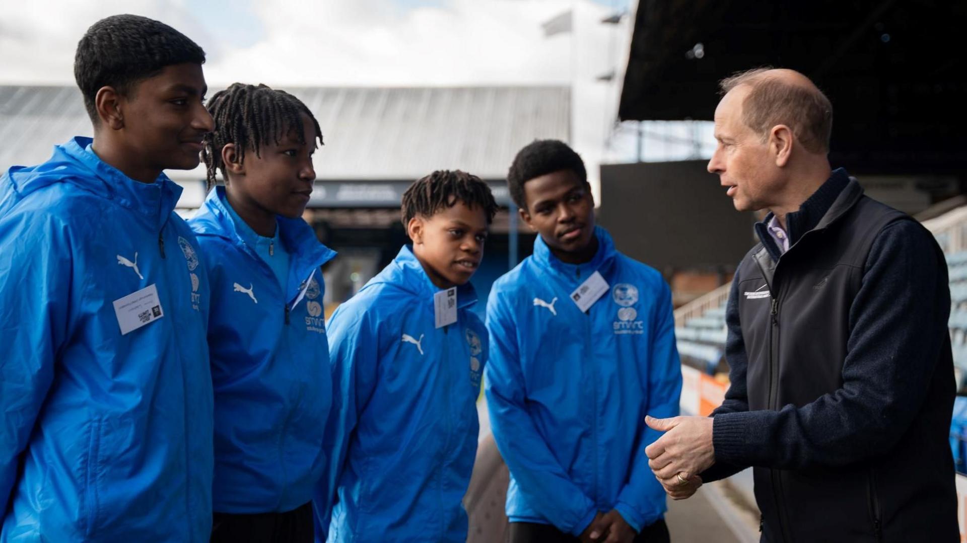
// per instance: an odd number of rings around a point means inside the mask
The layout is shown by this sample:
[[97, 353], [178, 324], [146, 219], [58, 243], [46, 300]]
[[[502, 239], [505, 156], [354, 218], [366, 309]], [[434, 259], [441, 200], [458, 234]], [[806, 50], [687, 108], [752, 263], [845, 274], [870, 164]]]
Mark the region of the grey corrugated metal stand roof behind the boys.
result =
[[[571, 136], [567, 87], [297, 87], [286, 91], [315, 114], [326, 145], [320, 180], [412, 180], [459, 168], [501, 180], [535, 138]], [[0, 86], [0, 168], [35, 164], [53, 145], [91, 133], [80, 92], [69, 86]], [[204, 170], [175, 171], [200, 180]]]

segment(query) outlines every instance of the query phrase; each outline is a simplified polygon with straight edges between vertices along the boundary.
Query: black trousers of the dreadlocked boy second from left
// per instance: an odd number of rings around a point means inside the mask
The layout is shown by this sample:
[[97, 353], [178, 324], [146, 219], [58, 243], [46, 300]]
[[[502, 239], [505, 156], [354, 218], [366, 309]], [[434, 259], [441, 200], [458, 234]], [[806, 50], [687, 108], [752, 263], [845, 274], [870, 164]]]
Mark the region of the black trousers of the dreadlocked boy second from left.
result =
[[312, 543], [312, 503], [284, 513], [212, 515], [211, 543]]

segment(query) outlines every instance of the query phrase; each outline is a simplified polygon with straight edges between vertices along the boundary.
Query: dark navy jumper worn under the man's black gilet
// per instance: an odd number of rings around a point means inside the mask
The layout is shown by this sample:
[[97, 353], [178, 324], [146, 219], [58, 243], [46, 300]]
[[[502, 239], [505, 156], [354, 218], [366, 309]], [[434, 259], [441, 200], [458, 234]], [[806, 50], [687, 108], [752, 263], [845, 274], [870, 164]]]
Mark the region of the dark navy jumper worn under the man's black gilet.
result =
[[[790, 244], [814, 228], [849, 183], [838, 169], [797, 213], [786, 217]], [[772, 214], [756, 224], [756, 233], [774, 260], [779, 251], [766, 229]], [[749, 466], [798, 470], [846, 466], [889, 450], [920, 411], [934, 366], [914, 363], [935, 359], [937, 330], [946, 329], [947, 300], [937, 300], [946, 287], [947, 270], [930, 234], [912, 220], [896, 221], [876, 238], [865, 262], [863, 286], [852, 302], [850, 352], [843, 361], [843, 380], [867, 383], [877, 394], [821, 397], [797, 408], [749, 411], [747, 352], [739, 319], [736, 276], [726, 307], [728, 335], [725, 357], [731, 386], [714, 416], [716, 465], [702, 473], [716, 480]], [[822, 341], [822, 338], [817, 338]], [[948, 347], [949, 348], [949, 347]], [[932, 354], [932, 355], [931, 355]], [[952, 380], [952, 376], [951, 376]], [[842, 400], [842, 401], [840, 401]], [[876, 414], [876, 416], [870, 416]]]

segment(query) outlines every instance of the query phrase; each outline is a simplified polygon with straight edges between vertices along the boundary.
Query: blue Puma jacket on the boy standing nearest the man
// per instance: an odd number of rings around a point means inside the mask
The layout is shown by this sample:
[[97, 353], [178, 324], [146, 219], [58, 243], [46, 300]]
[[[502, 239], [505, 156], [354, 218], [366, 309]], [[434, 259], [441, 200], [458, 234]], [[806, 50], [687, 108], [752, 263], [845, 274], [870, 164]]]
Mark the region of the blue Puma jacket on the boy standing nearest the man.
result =
[[[671, 294], [659, 272], [619, 253], [601, 227], [586, 264], [565, 264], [538, 237], [534, 254], [487, 301], [486, 400], [511, 470], [512, 522], [578, 535], [617, 509], [640, 530], [665, 511], [644, 422], [679, 411], [682, 372]], [[610, 286], [587, 313], [571, 301], [594, 272]]]

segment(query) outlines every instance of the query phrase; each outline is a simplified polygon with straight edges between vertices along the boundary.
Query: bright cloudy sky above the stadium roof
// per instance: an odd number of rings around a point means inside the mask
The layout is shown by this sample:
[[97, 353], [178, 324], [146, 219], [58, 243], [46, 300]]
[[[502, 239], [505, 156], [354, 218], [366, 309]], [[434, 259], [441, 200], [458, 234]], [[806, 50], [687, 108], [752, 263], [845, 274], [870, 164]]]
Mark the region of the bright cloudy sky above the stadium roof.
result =
[[[208, 53], [209, 87], [285, 85], [571, 85], [572, 144], [591, 164], [635, 157], [613, 128], [633, 0], [101, 0], [8, 1], [0, 18], [0, 84], [73, 84], [73, 49], [109, 14], [160, 19]], [[573, 31], [542, 23], [571, 10]], [[677, 128], [669, 130], [674, 131]], [[688, 135], [688, 132], [682, 132]], [[605, 142], [611, 136], [610, 145]], [[679, 149], [646, 145], [676, 157]], [[589, 173], [597, 168], [589, 167]], [[595, 176], [597, 177], [597, 176]]]

